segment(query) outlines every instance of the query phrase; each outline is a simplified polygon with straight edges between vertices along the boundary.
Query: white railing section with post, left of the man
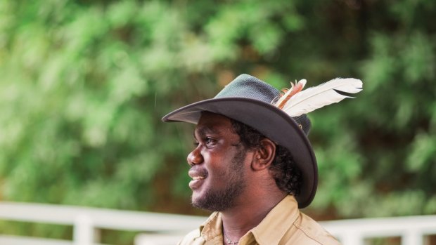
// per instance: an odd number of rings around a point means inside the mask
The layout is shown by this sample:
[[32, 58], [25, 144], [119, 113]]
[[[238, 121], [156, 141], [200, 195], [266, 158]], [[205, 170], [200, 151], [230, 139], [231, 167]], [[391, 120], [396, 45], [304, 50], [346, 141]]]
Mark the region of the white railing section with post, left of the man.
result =
[[164, 234], [168, 234], [167, 237], [179, 234], [176, 237], [179, 240], [183, 234], [203, 223], [205, 218], [104, 208], [0, 202], [0, 220], [72, 225], [73, 227], [72, 241], [40, 238], [32, 240], [30, 237], [0, 234], [1, 245], [91, 245], [98, 243], [99, 229], [147, 232], [150, 240]]

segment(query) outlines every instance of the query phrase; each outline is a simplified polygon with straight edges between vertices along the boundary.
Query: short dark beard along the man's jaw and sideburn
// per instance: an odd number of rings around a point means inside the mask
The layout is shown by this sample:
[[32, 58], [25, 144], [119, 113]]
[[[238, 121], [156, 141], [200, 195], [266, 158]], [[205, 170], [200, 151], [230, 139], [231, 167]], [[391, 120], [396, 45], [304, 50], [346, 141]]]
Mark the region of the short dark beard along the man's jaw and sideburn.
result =
[[246, 152], [240, 150], [231, 160], [230, 171], [227, 178], [227, 185], [223, 190], [209, 189], [203, 197], [192, 200], [196, 208], [203, 208], [209, 211], [225, 211], [233, 206], [238, 197], [245, 190], [245, 175], [243, 171], [243, 159]]

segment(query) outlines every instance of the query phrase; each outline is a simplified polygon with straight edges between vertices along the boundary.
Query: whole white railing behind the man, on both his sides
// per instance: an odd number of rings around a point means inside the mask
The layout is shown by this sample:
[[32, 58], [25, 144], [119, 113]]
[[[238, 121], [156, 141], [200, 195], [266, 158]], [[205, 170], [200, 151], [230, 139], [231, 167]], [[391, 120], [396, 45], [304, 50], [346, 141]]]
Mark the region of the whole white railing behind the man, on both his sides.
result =
[[[163, 213], [118, 211], [51, 204], [0, 202], [0, 220], [72, 225], [72, 241], [1, 234], [1, 245], [91, 245], [98, 244], [99, 229], [136, 231], [136, 245], [177, 244], [186, 232], [205, 217]], [[400, 237], [402, 245], [423, 245], [425, 236], [436, 234], [436, 216], [366, 218], [323, 221], [321, 225], [344, 245], [364, 245], [365, 239]]]

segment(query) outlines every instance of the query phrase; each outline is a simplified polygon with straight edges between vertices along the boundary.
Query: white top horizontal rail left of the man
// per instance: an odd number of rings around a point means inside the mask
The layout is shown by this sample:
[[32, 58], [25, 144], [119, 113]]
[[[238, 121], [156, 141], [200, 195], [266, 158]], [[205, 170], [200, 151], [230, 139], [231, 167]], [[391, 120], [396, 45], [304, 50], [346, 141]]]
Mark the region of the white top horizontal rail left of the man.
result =
[[[191, 230], [205, 220], [204, 217], [167, 213], [0, 202], [0, 219], [2, 220], [74, 225], [77, 222], [83, 222], [84, 218], [89, 219], [92, 226], [98, 228], [149, 232]], [[174, 222], [174, 220], [179, 220], [179, 222]]]

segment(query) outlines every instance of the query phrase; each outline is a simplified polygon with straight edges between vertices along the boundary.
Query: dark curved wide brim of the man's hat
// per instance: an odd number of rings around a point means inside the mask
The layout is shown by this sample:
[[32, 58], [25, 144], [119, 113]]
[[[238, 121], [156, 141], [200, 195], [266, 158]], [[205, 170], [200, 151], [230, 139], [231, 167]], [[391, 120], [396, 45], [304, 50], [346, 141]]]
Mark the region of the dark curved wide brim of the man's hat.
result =
[[205, 111], [241, 121], [290, 150], [302, 172], [302, 188], [296, 197], [298, 206], [304, 208], [312, 202], [318, 184], [315, 154], [307, 136], [288, 114], [274, 105], [250, 98], [213, 98], [174, 110], [162, 117], [162, 121], [197, 124], [201, 112]]

